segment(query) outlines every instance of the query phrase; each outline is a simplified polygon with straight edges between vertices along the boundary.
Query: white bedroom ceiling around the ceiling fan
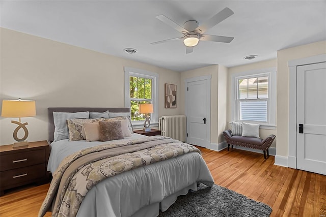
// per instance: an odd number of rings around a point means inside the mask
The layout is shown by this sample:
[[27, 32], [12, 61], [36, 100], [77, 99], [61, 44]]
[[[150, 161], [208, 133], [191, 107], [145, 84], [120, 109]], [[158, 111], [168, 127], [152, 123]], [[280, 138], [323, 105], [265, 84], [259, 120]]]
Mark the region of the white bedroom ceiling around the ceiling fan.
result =
[[[225, 7], [234, 14], [205, 34], [234, 37], [230, 44], [200, 41], [190, 54], [182, 40], [150, 44], [182, 36], [157, 15], [201, 24]], [[0, 12], [1, 27], [174, 71], [253, 63], [326, 40], [326, 1], [1, 1]]]

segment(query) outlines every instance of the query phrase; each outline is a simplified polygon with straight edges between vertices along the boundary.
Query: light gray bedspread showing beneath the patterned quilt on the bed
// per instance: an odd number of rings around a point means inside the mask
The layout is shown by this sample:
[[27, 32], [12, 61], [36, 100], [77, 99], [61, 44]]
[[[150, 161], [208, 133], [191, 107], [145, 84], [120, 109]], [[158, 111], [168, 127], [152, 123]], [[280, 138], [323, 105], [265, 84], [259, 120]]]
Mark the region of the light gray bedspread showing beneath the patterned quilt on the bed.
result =
[[[127, 140], [144, 137], [132, 134]], [[105, 142], [110, 143], [110, 142]], [[69, 154], [101, 142], [60, 140], [51, 143], [48, 171], [55, 172]], [[212, 186], [214, 180], [198, 152], [183, 154], [107, 178], [94, 186], [80, 205], [77, 216], [157, 216], [177, 196], [197, 190], [200, 181]]]

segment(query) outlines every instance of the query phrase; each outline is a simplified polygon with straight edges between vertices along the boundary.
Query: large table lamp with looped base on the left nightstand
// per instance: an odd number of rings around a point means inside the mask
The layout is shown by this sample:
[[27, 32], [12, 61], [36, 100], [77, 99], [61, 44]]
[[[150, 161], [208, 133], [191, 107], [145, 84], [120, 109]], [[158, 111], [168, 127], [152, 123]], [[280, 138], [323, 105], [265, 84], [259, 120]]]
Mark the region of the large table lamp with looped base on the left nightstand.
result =
[[[26, 128], [27, 122], [21, 123], [21, 117], [32, 117], [36, 115], [35, 101], [31, 100], [3, 100], [2, 101], [2, 117], [18, 117], [19, 122], [12, 120], [12, 123], [16, 123], [18, 127], [14, 130], [13, 137], [17, 141], [13, 144], [13, 147], [28, 146], [28, 142], [25, 141], [29, 136], [29, 131]], [[23, 129], [25, 135], [22, 138], [18, 138], [17, 133], [20, 129]]]

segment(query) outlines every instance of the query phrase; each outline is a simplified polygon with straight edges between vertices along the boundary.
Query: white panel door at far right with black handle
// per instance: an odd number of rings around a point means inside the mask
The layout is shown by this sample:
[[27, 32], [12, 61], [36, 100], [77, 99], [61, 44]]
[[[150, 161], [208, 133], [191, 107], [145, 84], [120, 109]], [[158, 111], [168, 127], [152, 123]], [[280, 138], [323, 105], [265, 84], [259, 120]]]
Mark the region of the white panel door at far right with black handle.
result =
[[326, 175], [326, 63], [297, 67], [296, 167]]

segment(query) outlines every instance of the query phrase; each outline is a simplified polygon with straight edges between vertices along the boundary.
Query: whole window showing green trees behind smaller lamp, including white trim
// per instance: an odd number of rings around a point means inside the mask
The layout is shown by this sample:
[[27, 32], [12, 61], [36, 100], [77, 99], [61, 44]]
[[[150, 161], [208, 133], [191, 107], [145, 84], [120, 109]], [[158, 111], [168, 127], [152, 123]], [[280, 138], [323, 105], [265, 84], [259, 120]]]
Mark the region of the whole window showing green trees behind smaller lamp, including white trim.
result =
[[[125, 107], [130, 107], [132, 125], [143, 125], [145, 117], [158, 122], [158, 74], [145, 70], [125, 68]], [[153, 113], [140, 114], [140, 103], [153, 104]]]

